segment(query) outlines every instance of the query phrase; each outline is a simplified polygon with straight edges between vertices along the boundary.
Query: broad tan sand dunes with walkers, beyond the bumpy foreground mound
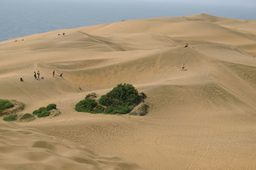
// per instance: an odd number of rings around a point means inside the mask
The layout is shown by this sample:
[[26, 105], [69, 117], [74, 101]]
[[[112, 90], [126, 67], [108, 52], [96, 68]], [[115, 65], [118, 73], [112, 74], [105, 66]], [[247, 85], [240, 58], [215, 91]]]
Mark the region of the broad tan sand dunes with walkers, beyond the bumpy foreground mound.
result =
[[[22, 38], [0, 42], [0, 97], [24, 102], [24, 113], [54, 102], [60, 116], [21, 126], [148, 169], [256, 169], [255, 24], [204, 13], [56, 30], [24, 37], [24, 42]], [[63, 31], [66, 36], [58, 36]], [[189, 48], [184, 48], [185, 42]], [[186, 71], [181, 71], [182, 63]], [[44, 80], [33, 79], [37, 70]], [[63, 72], [64, 79], [52, 77], [52, 70]], [[20, 77], [25, 82], [19, 82]], [[74, 111], [86, 94], [102, 95], [124, 82], [147, 94], [147, 116]], [[67, 141], [60, 143], [69, 146]], [[10, 158], [17, 157], [10, 153]], [[59, 162], [60, 157], [52, 157]]]

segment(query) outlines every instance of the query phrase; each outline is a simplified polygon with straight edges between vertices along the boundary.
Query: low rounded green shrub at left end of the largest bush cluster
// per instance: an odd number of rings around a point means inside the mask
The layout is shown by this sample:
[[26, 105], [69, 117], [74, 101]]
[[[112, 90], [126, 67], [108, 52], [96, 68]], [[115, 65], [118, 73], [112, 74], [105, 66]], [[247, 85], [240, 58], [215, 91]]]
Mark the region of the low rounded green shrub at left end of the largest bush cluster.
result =
[[97, 102], [92, 98], [86, 98], [81, 100], [79, 103], [76, 104], [76, 111], [77, 112], [91, 112], [93, 111], [94, 107], [97, 106]]

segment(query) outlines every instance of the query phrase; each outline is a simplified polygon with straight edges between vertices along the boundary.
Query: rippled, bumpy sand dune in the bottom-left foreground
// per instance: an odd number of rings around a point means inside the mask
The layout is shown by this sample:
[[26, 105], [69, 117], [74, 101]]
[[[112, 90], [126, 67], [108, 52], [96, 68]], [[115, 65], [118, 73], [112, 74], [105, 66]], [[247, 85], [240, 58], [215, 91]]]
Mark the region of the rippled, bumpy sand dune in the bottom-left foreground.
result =
[[118, 157], [102, 157], [65, 139], [1, 123], [1, 169], [140, 169]]

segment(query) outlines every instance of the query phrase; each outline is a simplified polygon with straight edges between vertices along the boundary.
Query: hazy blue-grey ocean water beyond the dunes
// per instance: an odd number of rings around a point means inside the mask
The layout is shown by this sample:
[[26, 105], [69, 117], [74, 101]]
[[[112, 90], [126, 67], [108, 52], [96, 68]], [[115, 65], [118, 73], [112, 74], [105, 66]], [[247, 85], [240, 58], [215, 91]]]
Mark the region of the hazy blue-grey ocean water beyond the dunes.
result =
[[0, 0], [0, 42], [54, 29], [92, 26], [122, 19], [175, 17], [196, 13], [256, 19], [256, 1], [247, 1], [251, 4], [246, 4], [246, 1], [244, 4], [187, 3], [186, 0]]

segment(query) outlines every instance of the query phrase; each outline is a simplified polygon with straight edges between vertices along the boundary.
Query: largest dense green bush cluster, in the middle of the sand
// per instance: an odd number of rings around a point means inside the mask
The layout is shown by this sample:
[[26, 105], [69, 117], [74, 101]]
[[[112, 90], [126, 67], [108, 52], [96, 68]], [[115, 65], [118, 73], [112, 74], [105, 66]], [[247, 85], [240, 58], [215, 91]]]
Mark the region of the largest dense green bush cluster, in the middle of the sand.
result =
[[[143, 93], [145, 95], [145, 93]], [[86, 95], [84, 100], [76, 104], [76, 111], [106, 114], [126, 114], [134, 106], [141, 102], [138, 90], [131, 84], [118, 84], [106, 95], [102, 95], [99, 101], [89, 98]]]

